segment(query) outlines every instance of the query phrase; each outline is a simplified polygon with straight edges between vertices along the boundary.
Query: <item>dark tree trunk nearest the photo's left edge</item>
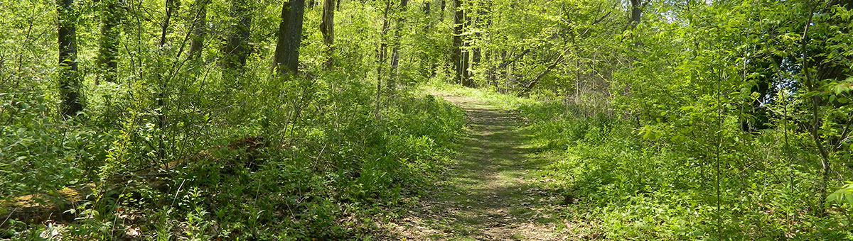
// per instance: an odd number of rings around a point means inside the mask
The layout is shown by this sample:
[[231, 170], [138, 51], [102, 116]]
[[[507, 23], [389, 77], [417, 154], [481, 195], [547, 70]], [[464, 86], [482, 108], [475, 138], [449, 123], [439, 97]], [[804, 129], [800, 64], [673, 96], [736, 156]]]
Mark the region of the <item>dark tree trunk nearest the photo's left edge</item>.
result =
[[83, 110], [80, 103], [80, 75], [77, 72], [77, 18], [73, 0], [57, 0], [59, 15], [59, 66], [61, 113], [71, 117]]

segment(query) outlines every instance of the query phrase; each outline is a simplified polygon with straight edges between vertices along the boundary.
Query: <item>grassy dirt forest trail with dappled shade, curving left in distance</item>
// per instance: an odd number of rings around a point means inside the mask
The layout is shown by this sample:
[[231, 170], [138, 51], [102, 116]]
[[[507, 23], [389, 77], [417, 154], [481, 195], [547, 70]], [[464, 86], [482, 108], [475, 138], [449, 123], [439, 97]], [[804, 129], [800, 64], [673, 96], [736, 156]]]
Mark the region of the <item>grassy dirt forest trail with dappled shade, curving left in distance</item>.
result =
[[436, 95], [465, 109], [469, 133], [438, 188], [389, 224], [393, 238], [566, 240], [554, 232], [561, 199], [537, 187], [543, 160], [528, 154], [519, 117], [480, 100]]

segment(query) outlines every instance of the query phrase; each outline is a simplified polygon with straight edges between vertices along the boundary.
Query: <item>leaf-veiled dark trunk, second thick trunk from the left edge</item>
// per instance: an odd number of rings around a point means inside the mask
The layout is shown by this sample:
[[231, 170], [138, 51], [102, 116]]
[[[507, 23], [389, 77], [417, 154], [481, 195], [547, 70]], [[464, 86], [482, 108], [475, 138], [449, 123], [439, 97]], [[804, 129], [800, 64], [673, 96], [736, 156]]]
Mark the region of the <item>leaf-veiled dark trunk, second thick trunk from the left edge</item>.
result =
[[114, 83], [119, 68], [116, 56], [119, 52], [119, 23], [122, 13], [119, 0], [103, 0], [102, 4], [101, 46], [98, 49], [100, 76], [98, 78]]

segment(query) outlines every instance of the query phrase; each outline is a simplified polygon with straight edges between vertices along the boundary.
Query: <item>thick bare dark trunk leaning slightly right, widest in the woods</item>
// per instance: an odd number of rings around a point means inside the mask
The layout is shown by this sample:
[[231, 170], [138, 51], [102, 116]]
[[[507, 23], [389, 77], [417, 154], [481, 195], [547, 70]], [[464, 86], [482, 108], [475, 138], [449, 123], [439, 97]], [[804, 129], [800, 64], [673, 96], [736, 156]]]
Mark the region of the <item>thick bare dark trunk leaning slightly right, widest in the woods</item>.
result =
[[289, 0], [281, 6], [276, 55], [273, 68], [279, 75], [295, 75], [299, 71], [299, 44], [302, 43], [302, 16], [305, 0]]

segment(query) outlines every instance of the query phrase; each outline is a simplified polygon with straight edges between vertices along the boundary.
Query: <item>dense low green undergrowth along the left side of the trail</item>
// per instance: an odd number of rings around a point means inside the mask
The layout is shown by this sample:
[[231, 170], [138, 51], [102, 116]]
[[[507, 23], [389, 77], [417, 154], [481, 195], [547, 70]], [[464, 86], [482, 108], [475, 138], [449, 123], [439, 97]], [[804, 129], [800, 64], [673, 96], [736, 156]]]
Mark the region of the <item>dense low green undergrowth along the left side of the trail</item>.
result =
[[0, 239], [371, 239], [377, 219], [414, 202], [449, 161], [464, 112], [409, 89], [377, 102], [372, 84], [335, 77], [257, 83], [234, 96], [242, 106], [198, 117], [204, 128], [175, 127], [170, 145], [184, 146], [171, 159], [189, 164], [168, 170], [160, 188], [144, 176], [99, 181], [160, 164], [153, 118], [55, 122], [37, 118], [45, 103], [21, 102], [0, 127], [0, 157], [14, 158], [0, 166], [0, 198], [90, 181], [100, 192], [67, 207], [76, 221], [13, 219]]

